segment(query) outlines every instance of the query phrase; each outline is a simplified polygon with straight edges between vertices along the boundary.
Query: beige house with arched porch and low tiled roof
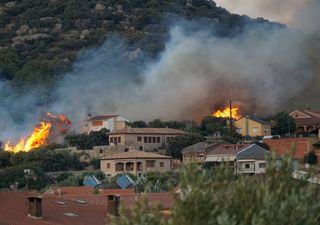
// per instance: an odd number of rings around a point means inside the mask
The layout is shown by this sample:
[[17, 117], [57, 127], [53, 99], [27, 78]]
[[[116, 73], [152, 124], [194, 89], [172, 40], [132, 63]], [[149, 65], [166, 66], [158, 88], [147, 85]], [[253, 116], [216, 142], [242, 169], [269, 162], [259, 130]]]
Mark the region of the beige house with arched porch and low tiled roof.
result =
[[130, 150], [100, 159], [100, 169], [108, 176], [132, 173], [136, 176], [149, 171], [171, 170], [171, 157], [151, 152]]

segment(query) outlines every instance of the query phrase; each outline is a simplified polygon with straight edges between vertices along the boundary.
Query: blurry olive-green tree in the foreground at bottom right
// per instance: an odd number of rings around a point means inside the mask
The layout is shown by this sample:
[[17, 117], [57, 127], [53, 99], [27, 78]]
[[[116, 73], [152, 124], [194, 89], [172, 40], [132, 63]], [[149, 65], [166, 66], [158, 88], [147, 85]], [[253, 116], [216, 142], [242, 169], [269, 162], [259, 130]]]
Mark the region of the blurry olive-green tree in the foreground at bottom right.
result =
[[181, 192], [167, 220], [160, 209], [140, 201], [130, 213], [122, 210], [113, 224], [320, 224], [319, 187], [292, 179], [291, 171], [290, 159], [280, 168], [271, 162], [265, 176], [236, 177], [228, 168], [212, 172], [191, 165], [181, 172]]

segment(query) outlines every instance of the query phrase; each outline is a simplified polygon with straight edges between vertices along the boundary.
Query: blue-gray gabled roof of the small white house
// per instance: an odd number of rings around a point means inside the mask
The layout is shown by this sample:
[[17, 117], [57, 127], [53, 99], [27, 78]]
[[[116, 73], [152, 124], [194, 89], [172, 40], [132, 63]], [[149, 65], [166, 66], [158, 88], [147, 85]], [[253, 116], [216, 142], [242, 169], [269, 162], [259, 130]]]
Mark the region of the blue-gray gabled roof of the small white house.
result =
[[270, 155], [270, 152], [257, 144], [252, 144], [242, 148], [237, 154], [237, 160], [241, 159], [256, 159], [264, 160], [266, 155]]

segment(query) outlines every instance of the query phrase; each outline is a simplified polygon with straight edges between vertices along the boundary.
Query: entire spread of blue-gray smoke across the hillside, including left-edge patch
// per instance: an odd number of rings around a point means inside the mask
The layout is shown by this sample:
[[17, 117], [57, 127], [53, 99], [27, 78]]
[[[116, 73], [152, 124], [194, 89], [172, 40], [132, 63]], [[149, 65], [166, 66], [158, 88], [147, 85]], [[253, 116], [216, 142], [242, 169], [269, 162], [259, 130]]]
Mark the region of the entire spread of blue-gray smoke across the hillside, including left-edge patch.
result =
[[[211, 113], [212, 105], [229, 99], [244, 113], [314, 106], [320, 82], [320, 18], [314, 13], [319, 5], [300, 12], [308, 15], [301, 23], [311, 19], [312, 29], [303, 32], [262, 26], [234, 38], [218, 38], [203, 24], [195, 24], [192, 32], [184, 23], [174, 24], [158, 60], [139, 49], [128, 51], [117, 38], [109, 39], [79, 54], [73, 71], [57, 83], [46, 110], [66, 114], [77, 128], [88, 113], [119, 113], [132, 120], [200, 119]], [[1, 85], [6, 107], [0, 109], [0, 139], [23, 132], [25, 136], [43, 111], [37, 107], [38, 90], [17, 98]]]

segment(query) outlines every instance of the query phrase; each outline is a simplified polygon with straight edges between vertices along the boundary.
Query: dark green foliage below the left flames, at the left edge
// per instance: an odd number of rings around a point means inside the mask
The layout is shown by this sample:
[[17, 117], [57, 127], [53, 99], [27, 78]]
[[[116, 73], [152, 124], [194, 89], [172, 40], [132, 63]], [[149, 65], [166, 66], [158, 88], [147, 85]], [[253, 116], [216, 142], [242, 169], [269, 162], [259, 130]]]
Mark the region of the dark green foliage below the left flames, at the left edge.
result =
[[[69, 151], [37, 149], [17, 154], [0, 152], [0, 189], [9, 188], [17, 183], [17, 188], [25, 187], [24, 169], [31, 169], [34, 176], [30, 179], [30, 188], [41, 189], [49, 184], [46, 172], [82, 170], [87, 165], [80, 162], [79, 155]], [[59, 181], [68, 176], [60, 177]]]

